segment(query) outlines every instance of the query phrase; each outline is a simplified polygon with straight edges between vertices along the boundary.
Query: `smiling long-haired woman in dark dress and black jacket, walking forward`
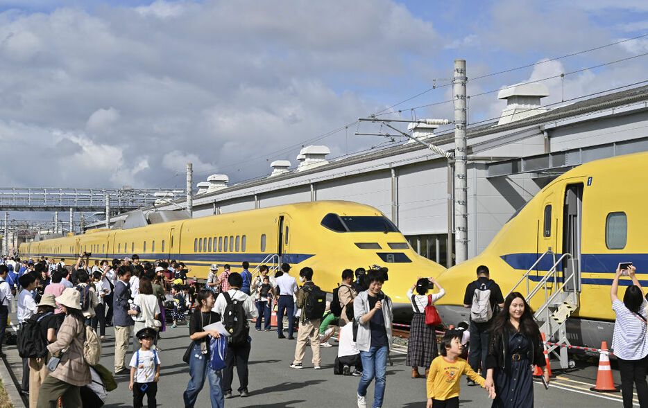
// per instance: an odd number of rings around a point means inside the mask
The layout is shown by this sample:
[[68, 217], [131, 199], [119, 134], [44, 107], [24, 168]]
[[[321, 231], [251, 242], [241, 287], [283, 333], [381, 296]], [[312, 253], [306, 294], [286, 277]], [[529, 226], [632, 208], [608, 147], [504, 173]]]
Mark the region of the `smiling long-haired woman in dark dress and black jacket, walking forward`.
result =
[[533, 364], [543, 367], [549, 383], [538, 323], [524, 296], [513, 292], [506, 296], [504, 309], [491, 326], [484, 388], [495, 387], [493, 408], [534, 406]]

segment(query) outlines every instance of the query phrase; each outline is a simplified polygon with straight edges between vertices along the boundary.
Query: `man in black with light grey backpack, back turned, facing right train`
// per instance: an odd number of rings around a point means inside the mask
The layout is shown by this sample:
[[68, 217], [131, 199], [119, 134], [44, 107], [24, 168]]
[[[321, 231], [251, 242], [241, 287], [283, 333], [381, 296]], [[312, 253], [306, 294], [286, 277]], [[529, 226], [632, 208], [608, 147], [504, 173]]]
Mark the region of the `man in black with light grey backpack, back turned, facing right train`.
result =
[[[495, 317], [495, 306], [504, 308], [504, 297], [500, 285], [490, 278], [491, 272], [485, 265], [477, 267], [477, 281], [468, 283], [463, 295], [463, 307], [470, 309], [470, 352], [468, 364], [477, 373], [481, 364], [481, 375], [486, 375], [488, 355], [488, 328]], [[468, 385], [475, 382], [468, 378]]]

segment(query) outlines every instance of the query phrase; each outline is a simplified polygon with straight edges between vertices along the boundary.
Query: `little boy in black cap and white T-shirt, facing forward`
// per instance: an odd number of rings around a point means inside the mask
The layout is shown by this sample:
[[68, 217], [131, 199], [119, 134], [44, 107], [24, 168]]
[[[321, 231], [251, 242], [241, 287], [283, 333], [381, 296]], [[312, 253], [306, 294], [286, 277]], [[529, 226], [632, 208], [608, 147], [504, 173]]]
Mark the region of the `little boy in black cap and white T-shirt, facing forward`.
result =
[[160, 380], [160, 357], [155, 350], [151, 350], [153, 339], [157, 332], [150, 327], [145, 327], [137, 332], [137, 339], [142, 345], [130, 359], [130, 385], [133, 391], [133, 407], [142, 408], [144, 395], [148, 408], [157, 407], [157, 382]]

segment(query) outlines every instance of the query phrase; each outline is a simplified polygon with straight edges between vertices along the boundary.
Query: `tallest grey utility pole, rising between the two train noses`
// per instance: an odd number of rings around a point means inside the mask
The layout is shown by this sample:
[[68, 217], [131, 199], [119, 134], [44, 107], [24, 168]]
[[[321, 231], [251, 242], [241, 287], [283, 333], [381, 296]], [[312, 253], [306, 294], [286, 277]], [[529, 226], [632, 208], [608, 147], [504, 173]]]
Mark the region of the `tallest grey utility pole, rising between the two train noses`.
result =
[[[466, 60], [454, 60], [454, 250], [455, 265], [468, 259], [468, 186], [466, 170]], [[450, 267], [450, 265], [448, 265]]]

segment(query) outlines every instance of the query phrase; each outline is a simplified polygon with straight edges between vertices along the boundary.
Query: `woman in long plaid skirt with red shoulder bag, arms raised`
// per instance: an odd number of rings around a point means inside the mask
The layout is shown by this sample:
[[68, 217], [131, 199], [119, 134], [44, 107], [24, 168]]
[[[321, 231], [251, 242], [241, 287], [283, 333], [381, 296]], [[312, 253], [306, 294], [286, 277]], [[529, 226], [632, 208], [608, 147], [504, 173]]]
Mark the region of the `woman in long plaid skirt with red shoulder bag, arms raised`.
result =
[[[438, 293], [427, 295], [431, 287], [438, 287]], [[416, 289], [416, 294], [413, 291]], [[411, 367], [411, 378], [421, 378], [418, 367], [425, 367], [425, 378], [434, 357], [438, 355], [436, 348], [436, 333], [434, 327], [425, 324], [425, 306], [434, 305], [445, 295], [443, 287], [434, 278], [418, 278], [416, 283], [407, 291], [407, 299], [411, 301], [414, 310], [407, 344], [407, 360], [405, 364]]]

